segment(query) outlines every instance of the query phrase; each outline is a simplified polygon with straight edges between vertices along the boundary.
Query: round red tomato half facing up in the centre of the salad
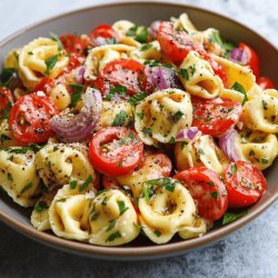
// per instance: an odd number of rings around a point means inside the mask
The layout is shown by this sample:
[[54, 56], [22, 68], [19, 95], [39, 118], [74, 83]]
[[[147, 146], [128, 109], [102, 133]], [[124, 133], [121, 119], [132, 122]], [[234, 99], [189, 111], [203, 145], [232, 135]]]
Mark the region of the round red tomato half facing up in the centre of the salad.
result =
[[89, 145], [91, 163], [107, 176], [131, 172], [141, 162], [142, 152], [143, 143], [137, 133], [123, 127], [99, 130]]

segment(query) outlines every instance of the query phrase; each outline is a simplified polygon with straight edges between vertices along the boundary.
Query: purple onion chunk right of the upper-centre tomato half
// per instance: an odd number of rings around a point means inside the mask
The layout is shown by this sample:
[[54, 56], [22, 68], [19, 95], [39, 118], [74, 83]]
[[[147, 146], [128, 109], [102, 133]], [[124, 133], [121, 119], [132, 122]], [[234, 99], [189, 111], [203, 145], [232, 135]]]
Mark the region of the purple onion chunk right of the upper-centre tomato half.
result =
[[146, 67], [148, 82], [153, 90], [163, 90], [168, 88], [180, 88], [180, 81], [173, 69], [165, 67]]

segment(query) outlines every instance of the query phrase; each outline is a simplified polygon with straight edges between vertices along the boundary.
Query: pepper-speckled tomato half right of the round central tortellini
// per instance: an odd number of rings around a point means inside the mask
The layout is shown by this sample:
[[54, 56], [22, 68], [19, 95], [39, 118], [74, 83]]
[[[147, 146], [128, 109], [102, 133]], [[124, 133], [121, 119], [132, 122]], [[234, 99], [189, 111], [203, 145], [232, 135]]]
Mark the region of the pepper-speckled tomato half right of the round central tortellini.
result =
[[230, 99], [192, 98], [193, 121], [205, 135], [214, 137], [222, 135], [239, 121], [242, 107], [238, 101]]

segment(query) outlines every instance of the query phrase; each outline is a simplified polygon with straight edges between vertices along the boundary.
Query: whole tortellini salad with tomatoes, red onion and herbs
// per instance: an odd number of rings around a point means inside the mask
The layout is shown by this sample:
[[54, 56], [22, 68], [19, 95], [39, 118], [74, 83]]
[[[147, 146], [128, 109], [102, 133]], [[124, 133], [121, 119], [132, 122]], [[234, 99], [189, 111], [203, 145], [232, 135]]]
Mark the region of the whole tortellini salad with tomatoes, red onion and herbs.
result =
[[278, 91], [256, 60], [186, 13], [11, 50], [1, 196], [31, 207], [36, 229], [98, 246], [190, 239], [238, 219], [278, 152]]

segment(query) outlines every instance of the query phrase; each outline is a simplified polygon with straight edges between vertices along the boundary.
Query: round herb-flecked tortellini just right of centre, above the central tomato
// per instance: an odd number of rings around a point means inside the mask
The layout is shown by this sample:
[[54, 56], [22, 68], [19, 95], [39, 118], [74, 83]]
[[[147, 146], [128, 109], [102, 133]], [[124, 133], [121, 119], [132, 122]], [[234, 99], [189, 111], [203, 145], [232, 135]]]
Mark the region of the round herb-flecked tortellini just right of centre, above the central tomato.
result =
[[179, 89], [153, 92], [136, 107], [135, 117], [136, 131], [146, 145], [175, 142], [178, 131], [191, 126], [190, 96]]

